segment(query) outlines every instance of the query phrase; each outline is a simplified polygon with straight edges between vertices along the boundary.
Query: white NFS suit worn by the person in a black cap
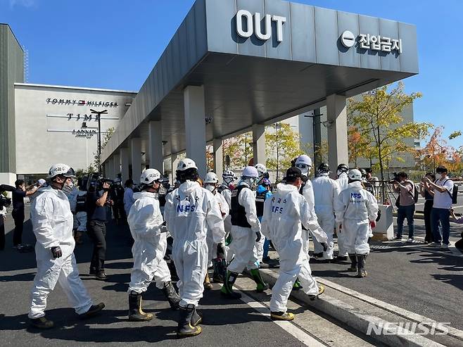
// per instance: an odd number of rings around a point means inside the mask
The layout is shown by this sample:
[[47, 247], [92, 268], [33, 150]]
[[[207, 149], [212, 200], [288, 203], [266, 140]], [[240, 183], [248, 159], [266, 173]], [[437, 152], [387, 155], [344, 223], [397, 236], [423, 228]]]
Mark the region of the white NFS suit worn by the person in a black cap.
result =
[[[304, 234], [313, 225], [309, 203], [292, 184], [277, 184], [277, 192], [265, 201], [262, 234], [272, 240], [280, 258], [279, 277], [272, 288], [270, 310], [286, 312], [286, 303], [299, 278], [305, 294], [317, 295], [318, 285], [312, 277], [309, 255], [304, 250]], [[301, 225], [302, 223], [302, 225]], [[326, 242], [322, 229], [315, 233], [319, 242]]]

